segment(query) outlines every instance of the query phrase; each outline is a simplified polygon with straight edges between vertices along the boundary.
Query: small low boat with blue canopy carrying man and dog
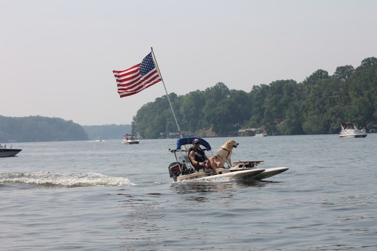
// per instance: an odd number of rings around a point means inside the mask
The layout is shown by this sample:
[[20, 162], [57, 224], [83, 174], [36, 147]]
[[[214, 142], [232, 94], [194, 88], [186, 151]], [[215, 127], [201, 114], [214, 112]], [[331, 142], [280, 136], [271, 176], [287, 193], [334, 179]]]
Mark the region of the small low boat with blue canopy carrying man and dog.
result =
[[[193, 165], [188, 158], [188, 150], [192, 146], [192, 141], [196, 139], [193, 137], [180, 138], [177, 140], [177, 147], [169, 149], [174, 153], [176, 162], [169, 165], [169, 175], [174, 181], [182, 182], [188, 180], [211, 180], [228, 178], [234, 180], [262, 180], [274, 175], [287, 171], [288, 167], [276, 167], [261, 169], [258, 164], [264, 162], [263, 160], [256, 161], [237, 161], [233, 163], [232, 167], [218, 168], [216, 173], [208, 173], [204, 170], [195, 171]], [[203, 138], [199, 139], [200, 146], [204, 147], [202, 150], [208, 158], [214, 156], [210, 144]]]

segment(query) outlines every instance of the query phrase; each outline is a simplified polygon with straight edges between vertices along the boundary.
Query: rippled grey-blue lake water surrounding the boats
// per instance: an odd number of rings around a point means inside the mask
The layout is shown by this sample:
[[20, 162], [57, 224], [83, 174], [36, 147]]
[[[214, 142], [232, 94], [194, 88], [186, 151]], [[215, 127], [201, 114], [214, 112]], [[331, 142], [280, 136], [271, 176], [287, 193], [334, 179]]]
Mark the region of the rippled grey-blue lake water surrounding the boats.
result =
[[[227, 139], [206, 138], [214, 150]], [[176, 139], [13, 143], [0, 250], [377, 250], [377, 133], [234, 139], [233, 161], [289, 170], [176, 183]]]

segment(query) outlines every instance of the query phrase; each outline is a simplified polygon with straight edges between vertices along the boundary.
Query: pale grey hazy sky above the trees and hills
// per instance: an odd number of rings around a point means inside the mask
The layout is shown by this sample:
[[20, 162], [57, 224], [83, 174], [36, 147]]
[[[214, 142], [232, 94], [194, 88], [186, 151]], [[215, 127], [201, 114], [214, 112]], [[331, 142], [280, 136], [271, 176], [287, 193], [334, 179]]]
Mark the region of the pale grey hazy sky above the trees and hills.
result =
[[121, 99], [112, 70], [150, 47], [178, 95], [332, 75], [377, 57], [376, 13], [375, 0], [0, 0], [0, 115], [130, 124], [165, 89]]

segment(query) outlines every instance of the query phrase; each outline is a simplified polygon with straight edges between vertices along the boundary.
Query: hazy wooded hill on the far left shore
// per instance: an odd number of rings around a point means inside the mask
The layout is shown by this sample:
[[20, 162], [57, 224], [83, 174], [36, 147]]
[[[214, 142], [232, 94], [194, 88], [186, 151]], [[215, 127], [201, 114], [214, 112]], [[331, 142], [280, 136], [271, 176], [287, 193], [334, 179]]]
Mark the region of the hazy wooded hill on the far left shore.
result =
[[0, 142], [87, 140], [81, 125], [60, 118], [42, 116], [4, 117], [0, 115]]

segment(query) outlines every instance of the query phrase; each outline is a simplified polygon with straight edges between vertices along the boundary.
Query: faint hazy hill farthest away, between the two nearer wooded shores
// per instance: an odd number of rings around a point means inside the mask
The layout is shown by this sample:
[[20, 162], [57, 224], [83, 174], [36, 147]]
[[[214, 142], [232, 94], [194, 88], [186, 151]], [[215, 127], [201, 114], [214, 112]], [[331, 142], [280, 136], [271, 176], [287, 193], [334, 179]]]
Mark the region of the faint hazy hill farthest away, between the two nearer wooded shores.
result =
[[83, 125], [89, 139], [121, 139], [131, 133], [131, 125]]

